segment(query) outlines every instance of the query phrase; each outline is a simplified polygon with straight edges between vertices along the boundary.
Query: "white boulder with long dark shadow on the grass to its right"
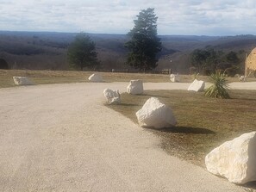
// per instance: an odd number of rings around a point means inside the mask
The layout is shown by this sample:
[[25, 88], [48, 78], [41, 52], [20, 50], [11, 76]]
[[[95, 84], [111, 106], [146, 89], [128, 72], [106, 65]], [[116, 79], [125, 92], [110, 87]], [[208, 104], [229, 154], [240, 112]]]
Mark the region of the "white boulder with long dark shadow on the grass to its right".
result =
[[172, 109], [159, 102], [156, 97], [149, 98], [136, 116], [141, 127], [173, 127], [177, 123]]

